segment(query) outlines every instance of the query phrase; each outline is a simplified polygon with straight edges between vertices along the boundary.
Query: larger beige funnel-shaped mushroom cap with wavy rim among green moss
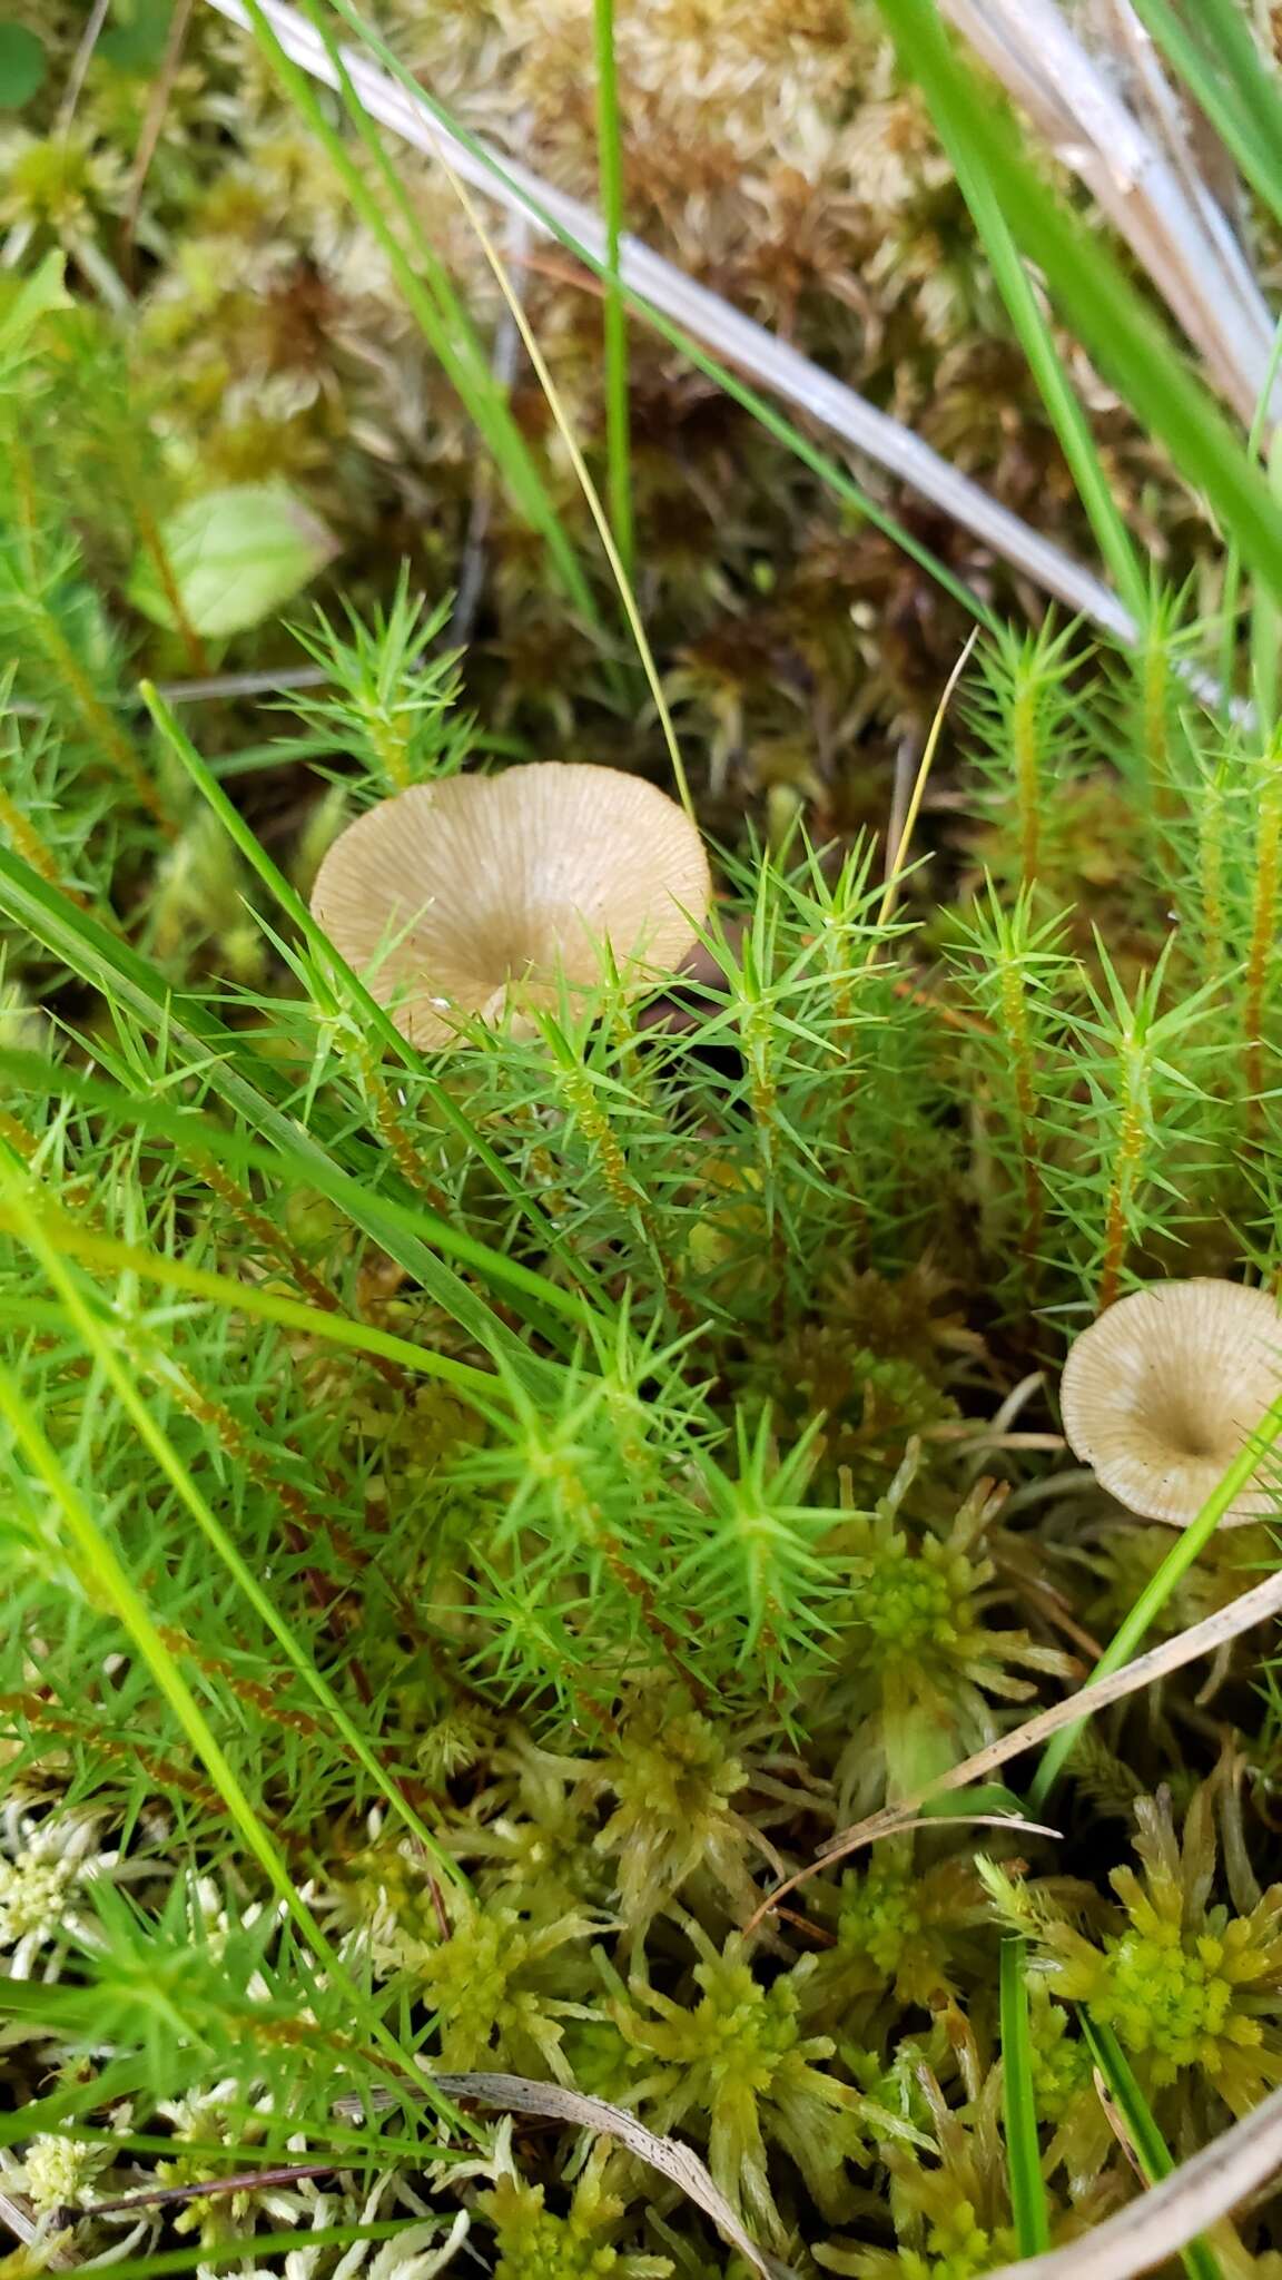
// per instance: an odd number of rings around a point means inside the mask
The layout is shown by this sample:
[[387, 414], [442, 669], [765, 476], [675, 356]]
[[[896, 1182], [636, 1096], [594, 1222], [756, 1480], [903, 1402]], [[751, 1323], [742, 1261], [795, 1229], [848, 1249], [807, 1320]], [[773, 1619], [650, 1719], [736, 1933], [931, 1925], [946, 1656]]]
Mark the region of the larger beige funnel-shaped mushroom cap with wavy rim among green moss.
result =
[[468, 1015], [554, 1005], [609, 951], [625, 980], [671, 974], [709, 903], [675, 800], [618, 768], [543, 759], [383, 800], [319, 866], [313, 914], [415, 1044]]

